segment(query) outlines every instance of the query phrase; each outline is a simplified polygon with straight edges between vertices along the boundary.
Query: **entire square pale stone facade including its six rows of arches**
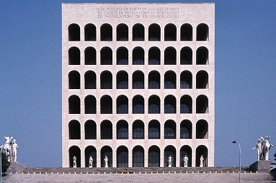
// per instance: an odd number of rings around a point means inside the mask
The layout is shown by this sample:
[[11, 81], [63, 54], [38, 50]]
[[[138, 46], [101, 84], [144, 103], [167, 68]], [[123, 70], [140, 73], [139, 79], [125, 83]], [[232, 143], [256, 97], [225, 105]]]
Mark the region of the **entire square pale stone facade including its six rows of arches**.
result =
[[214, 166], [214, 3], [62, 4], [62, 166]]

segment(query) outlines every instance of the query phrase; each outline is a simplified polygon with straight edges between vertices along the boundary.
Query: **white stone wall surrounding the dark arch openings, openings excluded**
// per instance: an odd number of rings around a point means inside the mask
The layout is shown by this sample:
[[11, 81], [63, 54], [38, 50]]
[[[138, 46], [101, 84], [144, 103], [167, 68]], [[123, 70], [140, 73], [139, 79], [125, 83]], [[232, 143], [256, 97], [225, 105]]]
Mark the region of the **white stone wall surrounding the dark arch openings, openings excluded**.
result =
[[[131, 9], [130, 9], [131, 8]], [[136, 8], [136, 9], [135, 9]], [[137, 9], [138, 8], [138, 9]], [[149, 9], [149, 8], [159, 8]], [[162, 10], [160, 10], [160, 8]], [[128, 15], [130, 12], [137, 12], [139, 16], [134, 18], [117, 17], [117, 15]], [[164, 13], [172, 15], [171, 17], [146, 17], [148, 15], [161, 15]], [[110, 17], [110, 14], [116, 15]], [[109, 16], [109, 17], [106, 17]], [[77, 23], [81, 31], [81, 41], [68, 41], [68, 26], [71, 23]], [[97, 28], [97, 41], [84, 41], [84, 26], [93, 23]], [[103, 23], [109, 23], [112, 26], [112, 40], [100, 41], [100, 27]], [[128, 40], [116, 41], [116, 27], [119, 23], [125, 23], [128, 26]], [[132, 26], [141, 23], [145, 28], [145, 41], [132, 41]], [[148, 41], [148, 26], [157, 23], [161, 27], [161, 41]], [[177, 26], [177, 41], [164, 41], [164, 28], [168, 23]], [[184, 23], [190, 23], [193, 26], [193, 41], [180, 41], [180, 28]], [[196, 41], [197, 25], [206, 23], [209, 28], [208, 41]], [[81, 64], [68, 65], [68, 49], [76, 46], [81, 50]], [[97, 50], [97, 65], [84, 65], [84, 50], [92, 46]], [[112, 49], [113, 65], [100, 65], [101, 48], [108, 46]], [[128, 48], [128, 66], [116, 65], [116, 50], [120, 46]], [[132, 49], [141, 46], [145, 50], [145, 65], [132, 66]], [[148, 49], [157, 46], [161, 50], [161, 65], [148, 65]], [[164, 65], [164, 50], [172, 46], [177, 50], [177, 65]], [[193, 65], [180, 65], [180, 50], [188, 46], [193, 50]], [[196, 50], [200, 46], [208, 48], [208, 65], [196, 65]], [[81, 89], [68, 89], [68, 73], [71, 70], [77, 70], [81, 75]], [[84, 89], [84, 74], [87, 70], [93, 70], [97, 75], [97, 89]], [[100, 73], [103, 70], [109, 70], [113, 76], [113, 85], [110, 90], [99, 89]], [[126, 70], [128, 73], [128, 90], [116, 89], [116, 74], [119, 70]], [[132, 73], [135, 70], [143, 71], [145, 75], [145, 89], [132, 90]], [[157, 70], [161, 76], [161, 89], [148, 89], [148, 73], [151, 70]], [[177, 89], [164, 89], [164, 73], [167, 70], [173, 70], [177, 74]], [[193, 89], [180, 89], [180, 73], [189, 70], [193, 74]], [[208, 73], [208, 89], [196, 89], [196, 73], [199, 70], [206, 70]], [[100, 98], [108, 94], [112, 97], [112, 115], [100, 114]], [[199, 95], [208, 97], [208, 114], [196, 114], [196, 98]], [[81, 114], [68, 114], [68, 98], [70, 95], [78, 95], [81, 99]], [[84, 98], [87, 95], [94, 95], [97, 99], [97, 114], [84, 114]], [[116, 114], [116, 98], [119, 95], [128, 97], [128, 115]], [[142, 95], [145, 99], [145, 114], [132, 114], [132, 97]], [[158, 95], [161, 99], [161, 114], [148, 114], [148, 97]], [[177, 113], [164, 114], [164, 98], [166, 95], [174, 95], [177, 99]], [[180, 98], [182, 95], [190, 95], [193, 98], [193, 113], [180, 114]], [[68, 123], [72, 119], [77, 119], [81, 124], [81, 139], [69, 139]], [[97, 124], [97, 139], [84, 139], [84, 124], [88, 119], [93, 119]], [[100, 123], [104, 119], [112, 122], [112, 139], [100, 139]], [[117, 139], [116, 123], [119, 119], [126, 119], [128, 122], [128, 139]], [[141, 119], [144, 124], [145, 139], [132, 140], [132, 122], [135, 119]], [[161, 124], [161, 139], [148, 139], [148, 122], [151, 119], [157, 119]], [[177, 138], [164, 139], [164, 122], [167, 119], [173, 119], [177, 124]], [[180, 123], [184, 119], [189, 119], [193, 124], [192, 139], [180, 139]], [[208, 122], [208, 139], [196, 139], [196, 122], [199, 119], [205, 119]], [[176, 166], [179, 166], [179, 156], [181, 146], [188, 145], [192, 148], [192, 166], [195, 166], [195, 152], [199, 145], [208, 148], [208, 166], [214, 166], [214, 145], [215, 145], [215, 4], [214, 3], [63, 3], [62, 4], [62, 166], [69, 166], [70, 146], [79, 146], [81, 149], [81, 167], [85, 166], [84, 150], [86, 146], [92, 145], [97, 149], [97, 166], [101, 166], [101, 147], [108, 145], [112, 148], [113, 166], [116, 166], [116, 149], [124, 145], [128, 148], [128, 165], [132, 166], [132, 148], [136, 145], [144, 147], [145, 166], [148, 166], [148, 148], [151, 145], [157, 145], [160, 148], [160, 166], [164, 166], [164, 148], [168, 145], [176, 148]]]

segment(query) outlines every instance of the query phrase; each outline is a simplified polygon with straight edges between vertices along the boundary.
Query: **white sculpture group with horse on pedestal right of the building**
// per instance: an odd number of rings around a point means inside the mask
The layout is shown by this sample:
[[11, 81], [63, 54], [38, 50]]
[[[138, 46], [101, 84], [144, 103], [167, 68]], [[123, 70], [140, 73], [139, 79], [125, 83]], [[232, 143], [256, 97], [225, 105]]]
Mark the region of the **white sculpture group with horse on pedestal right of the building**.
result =
[[269, 137], [261, 137], [261, 139], [258, 139], [256, 146], [251, 149], [251, 151], [257, 149], [257, 161], [268, 160], [268, 151], [273, 147], [273, 144], [268, 142]]

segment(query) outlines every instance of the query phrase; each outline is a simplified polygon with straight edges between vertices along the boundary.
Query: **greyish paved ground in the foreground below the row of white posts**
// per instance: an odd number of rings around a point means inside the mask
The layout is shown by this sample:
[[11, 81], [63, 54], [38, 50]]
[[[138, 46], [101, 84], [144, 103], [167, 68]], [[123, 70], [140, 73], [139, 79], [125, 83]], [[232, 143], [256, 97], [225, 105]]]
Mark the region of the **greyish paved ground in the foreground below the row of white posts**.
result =
[[[12, 174], [3, 177], [3, 183], [71, 183], [71, 182], [239, 182], [239, 173], [147, 173], [147, 174]], [[270, 173], [242, 173], [242, 182], [276, 182]]]

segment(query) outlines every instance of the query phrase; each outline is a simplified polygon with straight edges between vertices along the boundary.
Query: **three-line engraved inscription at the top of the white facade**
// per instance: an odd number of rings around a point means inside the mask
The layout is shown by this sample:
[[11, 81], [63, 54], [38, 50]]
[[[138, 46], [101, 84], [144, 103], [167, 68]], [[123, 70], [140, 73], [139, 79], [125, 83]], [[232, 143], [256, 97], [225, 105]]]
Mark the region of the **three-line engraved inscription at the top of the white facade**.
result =
[[179, 8], [96, 8], [99, 19], [178, 19]]

